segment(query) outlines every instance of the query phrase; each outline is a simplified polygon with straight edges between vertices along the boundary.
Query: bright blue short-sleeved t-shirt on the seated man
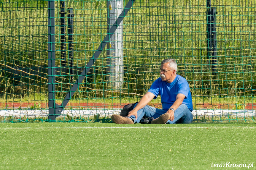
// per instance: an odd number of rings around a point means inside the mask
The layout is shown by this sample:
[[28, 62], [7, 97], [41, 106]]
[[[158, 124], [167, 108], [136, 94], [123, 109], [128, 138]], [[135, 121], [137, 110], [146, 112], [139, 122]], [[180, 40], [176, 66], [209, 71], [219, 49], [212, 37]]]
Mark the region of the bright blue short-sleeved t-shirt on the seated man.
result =
[[155, 95], [154, 99], [156, 99], [158, 95], [161, 96], [163, 110], [168, 110], [173, 105], [173, 103], [176, 101], [177, 94], [184, 94], [185, 98], [182, 103], [187, 105], [190, 111], [193, 111], [189, 85], [187, 80], [180, 75], [176, 75], [174, 81], [171, 83], [162, 81], [162, 79], [159, 77], [153, 82], [148, 91]]

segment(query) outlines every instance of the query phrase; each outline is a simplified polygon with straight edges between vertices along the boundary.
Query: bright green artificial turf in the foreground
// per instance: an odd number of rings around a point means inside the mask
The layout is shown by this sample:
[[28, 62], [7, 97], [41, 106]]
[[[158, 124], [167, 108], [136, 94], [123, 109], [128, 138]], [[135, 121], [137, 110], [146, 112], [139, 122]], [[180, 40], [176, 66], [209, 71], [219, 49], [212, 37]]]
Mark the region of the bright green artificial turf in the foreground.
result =
[[[0, 169], [248, 169], [255, 123], [2, 123]], [[256, 169], [251, 167], [250, 169]]]

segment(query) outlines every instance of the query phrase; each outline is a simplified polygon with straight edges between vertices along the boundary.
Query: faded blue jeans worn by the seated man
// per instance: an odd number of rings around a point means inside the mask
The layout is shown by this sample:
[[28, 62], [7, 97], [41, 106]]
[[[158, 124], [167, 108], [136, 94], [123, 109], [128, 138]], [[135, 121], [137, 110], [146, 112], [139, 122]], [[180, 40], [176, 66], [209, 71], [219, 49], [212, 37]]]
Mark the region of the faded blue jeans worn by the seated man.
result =
[[[138, 103], [137, 103], [138, 104]], [[135, 106], [137, 106], [137, 104]], [[135, 107], [134, 106], [134, 107]], [[135, 116], [130, 116], [133, 119], [134, 123], [139, 123], [143, 116], [145, 117], [154, 117], [154, 119], [158, 118], [162, 114], [165, 114], [167, 110], [157, 109], [151, 106], [146, 105], [142, 109], [138, 110], [137, 112], [137, 119]], [[193, 120], [193, 115], [190, 110], [188, 110], [187, 105], [181, 104], [175, 111], [174, 111], [174, 120], [168, 120], [166, 124], [175, 124], [175, 123], [191, 123]]]

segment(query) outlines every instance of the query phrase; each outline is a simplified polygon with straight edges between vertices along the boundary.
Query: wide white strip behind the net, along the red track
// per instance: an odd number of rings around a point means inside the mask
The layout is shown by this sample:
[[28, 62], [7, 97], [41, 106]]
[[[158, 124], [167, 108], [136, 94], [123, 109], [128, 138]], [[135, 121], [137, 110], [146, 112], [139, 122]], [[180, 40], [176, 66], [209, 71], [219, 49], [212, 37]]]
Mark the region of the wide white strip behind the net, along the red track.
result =
[[[120, 110], [63, 110], [60, 117], [67, 114], [71, 117], [75, 116], [93, 116], [99, 114], [100, 116], [111, 116], [112, 114], [120, 114]], [[256, 116], [256, 110], [222, 110], [222, 109], [198, 109], [193, 110], [193, 116]], [[29, 116], [29, 117], [47, 117], [48, 110], [35, 109], [35, 110], [0, 110], [0, 116]]]

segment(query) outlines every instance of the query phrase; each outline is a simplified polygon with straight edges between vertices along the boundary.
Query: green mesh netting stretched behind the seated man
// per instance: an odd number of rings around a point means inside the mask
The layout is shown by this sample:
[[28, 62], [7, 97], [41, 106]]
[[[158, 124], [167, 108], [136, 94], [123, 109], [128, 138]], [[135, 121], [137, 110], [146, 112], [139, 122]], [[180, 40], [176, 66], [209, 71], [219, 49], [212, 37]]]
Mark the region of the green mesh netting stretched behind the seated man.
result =
[[[73, 67], [61, 65], [61, 2], [55, 1], [56, 103], [93, 56], [108, 29], [107, 1], [64, 1], [73, 8]], [[123, 7], [127, 1], [123, 1]], [[127, 103], [138, 101], [174, 58], [187, 79], [194, 119], [255, 120], [256, 1], [212, 1], [216, 7], [217, 75], [206, 47], [206, 0], [135, 1], [124, 18], [121, 79], [109, 78], [107, 47], [58, 121], [107, 121]], [[48, 114], [47, 1], [0, 2], [0, 122], [45, 121]], [[112, 47], [110, 42], [108, 47]], [[112, 67], [119, 67], [118, 65]], [[73, 69], [73, 75], [70, 74]], [[122, 81], [121, 86], [114, 85]], [[116, 86], [116, 87], [115, 87]], [[161, 108], [160, 98], [150, 105]], [[104, 118], [104, 119], [103, 119]]]

